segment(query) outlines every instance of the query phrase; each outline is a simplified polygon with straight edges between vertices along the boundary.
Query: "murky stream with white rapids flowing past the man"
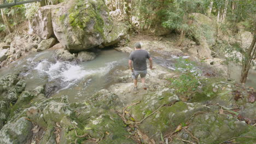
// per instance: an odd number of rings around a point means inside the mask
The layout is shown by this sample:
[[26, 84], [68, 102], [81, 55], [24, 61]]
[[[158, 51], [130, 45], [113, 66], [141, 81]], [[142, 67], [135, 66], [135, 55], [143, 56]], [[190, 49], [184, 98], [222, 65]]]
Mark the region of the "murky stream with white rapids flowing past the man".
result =
[[[0, 70], [0, 76], [20, 73], [27, 81], [26, 90], [46, 85], [46, 96], [67, 95], [71, 102], [82, 101], [86, 97], [107, 88], [114, 83], [111, 71], [127, 70], [127, 53], [115, 50], [103, 50], [97, 58], [89, 62], [63, 62], [54, 57], [55, 50], [46, 50], [19, 59]], [[184, 57], [187, 58], [187, 57]], [[154, 57], [154, 63], [174, 70], [177, 57]], [[239, 67], [230, 67], [230, 77], [240, 78]], [[256, 88], [256, 73], [251, 71], [247, 86]]]

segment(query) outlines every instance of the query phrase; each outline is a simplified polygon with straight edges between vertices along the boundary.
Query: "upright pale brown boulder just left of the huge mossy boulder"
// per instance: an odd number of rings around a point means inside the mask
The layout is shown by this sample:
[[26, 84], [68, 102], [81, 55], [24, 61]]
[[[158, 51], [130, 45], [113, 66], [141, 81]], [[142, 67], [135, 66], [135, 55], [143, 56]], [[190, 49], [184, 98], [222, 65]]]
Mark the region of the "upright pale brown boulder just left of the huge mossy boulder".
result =
[[32, 20], [33, 31], [42, 39], [49, 39], [54, 34], [53, 22], [51, 20], [51, 10], [54, 5], [40, 7]]

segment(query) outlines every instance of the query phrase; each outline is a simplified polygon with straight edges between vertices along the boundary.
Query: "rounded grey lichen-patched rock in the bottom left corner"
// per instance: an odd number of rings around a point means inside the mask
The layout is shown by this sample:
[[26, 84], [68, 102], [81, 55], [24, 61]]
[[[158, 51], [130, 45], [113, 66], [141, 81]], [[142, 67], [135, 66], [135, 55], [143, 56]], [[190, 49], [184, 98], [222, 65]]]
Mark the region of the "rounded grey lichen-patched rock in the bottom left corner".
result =
[[0, 143], [26, 143], [32, 136], [32, 123], [21, 117], [18, 121], [5, 124], [0, 131]]

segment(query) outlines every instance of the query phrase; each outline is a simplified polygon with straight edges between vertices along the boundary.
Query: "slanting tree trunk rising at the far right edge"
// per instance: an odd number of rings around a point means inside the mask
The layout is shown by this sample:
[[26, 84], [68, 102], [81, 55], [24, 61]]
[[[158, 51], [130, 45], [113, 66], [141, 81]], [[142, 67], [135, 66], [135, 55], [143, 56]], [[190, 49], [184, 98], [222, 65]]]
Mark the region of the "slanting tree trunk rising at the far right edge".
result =
[[254, 27], [254, 34], [253, 34], [252, 43], [251, 43], [249, 49], [246, 52], [246, 56], [244, 56], [244, 58], [243, 58], [244, 63], [243, 63], [242, 71], [241, 71], [241, 79], [240, 79], [241, 83], [246, 83], [249, 70], [252, 66], [252, 62], [254, 60], [255, 51], [256, 51], [255, 43], [256, 43], [256, 26]]

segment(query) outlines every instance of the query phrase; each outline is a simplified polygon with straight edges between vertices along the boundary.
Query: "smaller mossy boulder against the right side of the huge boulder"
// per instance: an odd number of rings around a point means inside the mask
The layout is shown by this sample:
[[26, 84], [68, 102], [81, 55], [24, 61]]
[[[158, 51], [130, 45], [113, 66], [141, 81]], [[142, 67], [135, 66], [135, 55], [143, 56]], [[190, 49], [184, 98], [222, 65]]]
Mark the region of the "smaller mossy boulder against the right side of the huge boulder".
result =
[[127, 26], [121, 22], [114, 22], [112, 31], [106, 36], [104, 46], [110, 46], [117, 44], [121, 39], [124, 39], [127, 35]]

